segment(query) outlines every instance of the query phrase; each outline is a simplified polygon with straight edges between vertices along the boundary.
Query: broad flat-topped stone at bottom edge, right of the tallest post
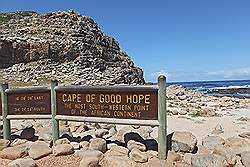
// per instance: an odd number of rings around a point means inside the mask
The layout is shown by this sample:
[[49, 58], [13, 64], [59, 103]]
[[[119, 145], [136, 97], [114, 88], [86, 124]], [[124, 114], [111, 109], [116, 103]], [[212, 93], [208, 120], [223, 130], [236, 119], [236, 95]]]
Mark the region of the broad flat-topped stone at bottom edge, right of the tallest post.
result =
[[193, 167], [223, 167], [228, 165], [223, 156], [216, 154], [197, 154], [191, 158]]

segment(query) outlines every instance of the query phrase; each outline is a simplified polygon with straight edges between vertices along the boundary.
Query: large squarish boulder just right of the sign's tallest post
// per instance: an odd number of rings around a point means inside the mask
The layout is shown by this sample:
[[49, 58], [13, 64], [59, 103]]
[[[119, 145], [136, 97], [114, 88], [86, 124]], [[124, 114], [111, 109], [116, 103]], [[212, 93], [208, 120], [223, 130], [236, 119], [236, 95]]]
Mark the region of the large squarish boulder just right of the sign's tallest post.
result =
[[196, 137], [190, 132], [174, 132], [172, 149], [175, 152], [193, 152], [197, 145]]

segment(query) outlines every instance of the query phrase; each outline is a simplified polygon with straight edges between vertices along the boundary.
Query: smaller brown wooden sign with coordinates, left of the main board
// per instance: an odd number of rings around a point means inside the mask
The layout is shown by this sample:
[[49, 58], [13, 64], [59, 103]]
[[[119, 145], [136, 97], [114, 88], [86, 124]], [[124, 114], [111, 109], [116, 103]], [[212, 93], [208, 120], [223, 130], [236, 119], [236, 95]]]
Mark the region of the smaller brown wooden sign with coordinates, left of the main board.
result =
[[51, 97], [47, 88], [8, 90], [9, 115], [50, 115]]

